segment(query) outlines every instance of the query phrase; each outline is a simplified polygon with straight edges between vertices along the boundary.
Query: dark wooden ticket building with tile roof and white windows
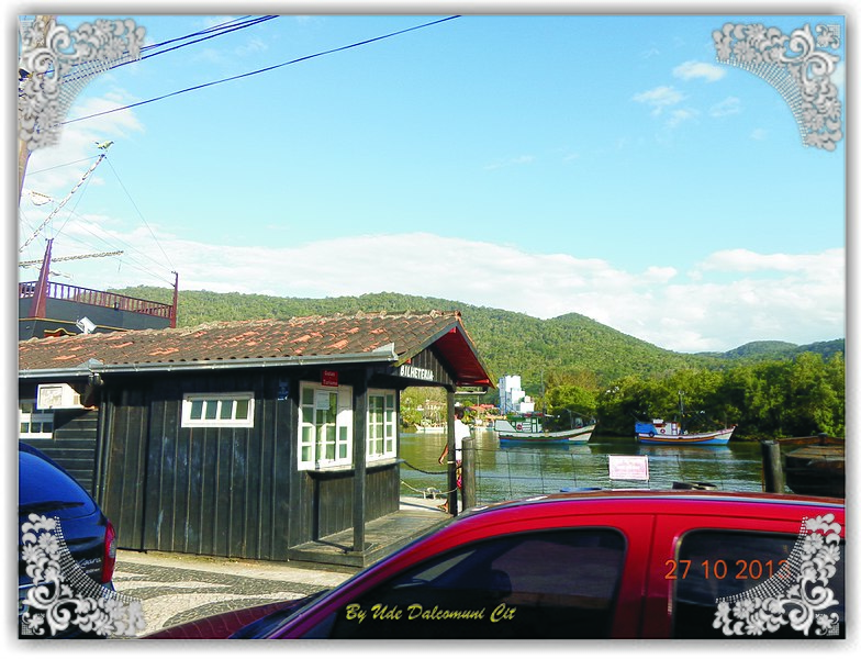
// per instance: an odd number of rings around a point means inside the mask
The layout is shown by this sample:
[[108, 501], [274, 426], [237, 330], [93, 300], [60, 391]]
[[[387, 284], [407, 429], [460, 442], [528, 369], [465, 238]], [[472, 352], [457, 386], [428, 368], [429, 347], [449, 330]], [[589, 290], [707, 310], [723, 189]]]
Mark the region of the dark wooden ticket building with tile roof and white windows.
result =
[[400, 392], [492, 387], [458, 312], [38, 338], [19, 365], [22, 440], [91, 489], [120, 547], [359, 566], [399, 511]]

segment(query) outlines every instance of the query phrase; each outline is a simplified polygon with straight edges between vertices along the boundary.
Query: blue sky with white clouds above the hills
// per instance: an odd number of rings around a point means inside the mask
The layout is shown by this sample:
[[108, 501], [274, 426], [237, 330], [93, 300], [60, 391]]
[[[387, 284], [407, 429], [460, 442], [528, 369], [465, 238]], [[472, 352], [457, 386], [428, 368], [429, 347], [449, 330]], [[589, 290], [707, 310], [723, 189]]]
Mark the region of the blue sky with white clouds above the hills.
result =
[[[108, 159], [19, 257], [54, 237], [124, 250], [56, 264], [88, 288], [392, 291], [680, 351], [846, 336], [846, 139], [803, 146], [712, 36], [838, 25], [845, 101], [840, 15], [463, 15], [145, 102], [451, 15], [396, 13], [283, 15], [97, 77], [24, 189], [62, 199], [96, 142]], [[158, 44], [242, 15], [131, 18]], [[24, 194], [19, 246], [51, 208]]]

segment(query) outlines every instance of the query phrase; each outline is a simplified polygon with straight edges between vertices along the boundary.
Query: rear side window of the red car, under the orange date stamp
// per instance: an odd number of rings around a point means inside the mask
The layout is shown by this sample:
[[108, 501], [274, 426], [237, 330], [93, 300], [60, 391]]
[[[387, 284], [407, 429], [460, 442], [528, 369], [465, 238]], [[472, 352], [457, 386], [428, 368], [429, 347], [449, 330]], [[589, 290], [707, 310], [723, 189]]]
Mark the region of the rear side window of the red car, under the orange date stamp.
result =
[[[678, 558], [667, 561], [664, 574], [674, 582], [673, 636], [804, 637], [804, 632], [793, 629], [790, 623], [801, 616], [810, 619], [807, 637], [821, 638], [828, 635], [825, 627], [829, 626], [832, 634], [842, 637], [843, 544], [839, 550], [835, 547], [832, 558], [839, 556], [837, 560], [818, 566], [832, 569], [810, 573], [813, 580], [800, 589], [798, 566], [803, 560], [798, 550], [803, 543], [803, 536], [790, 534], [698, 530], [684, 535]], [[827, 603], [825, 600], [816, 603], [823, 592], [813, 593], [812, 589], [821, 585], [831, 591], [832, 604], [821, 606]], [[718, 612], [718, 599], [726, 599], [723, 615]]]

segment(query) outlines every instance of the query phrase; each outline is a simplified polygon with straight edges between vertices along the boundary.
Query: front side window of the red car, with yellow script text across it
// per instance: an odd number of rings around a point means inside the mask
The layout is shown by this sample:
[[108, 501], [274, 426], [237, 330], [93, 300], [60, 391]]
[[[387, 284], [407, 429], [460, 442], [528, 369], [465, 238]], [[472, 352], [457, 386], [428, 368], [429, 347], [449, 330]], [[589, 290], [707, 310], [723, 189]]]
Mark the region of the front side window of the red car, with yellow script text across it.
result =
[[327, 636], [607, 637], [624, 561], [624, 537], [606, 528], [474, 543], [349, 602]]

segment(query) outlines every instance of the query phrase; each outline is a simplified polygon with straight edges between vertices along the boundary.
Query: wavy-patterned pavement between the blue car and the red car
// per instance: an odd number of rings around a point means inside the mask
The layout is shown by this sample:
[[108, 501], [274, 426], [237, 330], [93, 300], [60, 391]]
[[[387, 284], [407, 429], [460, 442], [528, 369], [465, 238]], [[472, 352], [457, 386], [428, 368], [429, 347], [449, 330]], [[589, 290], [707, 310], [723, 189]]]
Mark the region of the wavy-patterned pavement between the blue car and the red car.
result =
[[143, 604], [146, 636], [193, 619], [338, 585], [357, 570], [197, 556], [118, 551], [113, 584]]

